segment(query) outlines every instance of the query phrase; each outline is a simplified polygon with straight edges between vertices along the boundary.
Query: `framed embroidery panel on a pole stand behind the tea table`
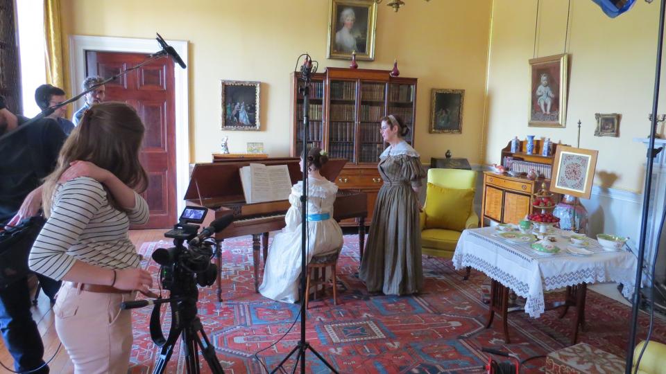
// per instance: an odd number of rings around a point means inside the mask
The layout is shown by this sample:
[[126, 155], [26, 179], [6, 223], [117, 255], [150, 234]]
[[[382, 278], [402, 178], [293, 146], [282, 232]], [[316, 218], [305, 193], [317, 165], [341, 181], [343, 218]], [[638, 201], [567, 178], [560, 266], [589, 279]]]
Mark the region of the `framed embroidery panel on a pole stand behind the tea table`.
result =
[[598, 151], [558, 146], [553, 163], [550, 190], [589, 199], [597, 168]]

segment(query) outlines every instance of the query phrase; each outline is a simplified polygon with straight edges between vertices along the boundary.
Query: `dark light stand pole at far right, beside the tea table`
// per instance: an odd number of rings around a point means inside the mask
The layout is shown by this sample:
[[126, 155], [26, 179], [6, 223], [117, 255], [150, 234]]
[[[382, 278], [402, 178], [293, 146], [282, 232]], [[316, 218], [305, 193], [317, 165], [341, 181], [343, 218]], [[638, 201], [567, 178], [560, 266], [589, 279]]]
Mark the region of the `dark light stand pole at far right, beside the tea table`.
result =
[[[663, 53], [664, 42], [664, 13], [666, 10], [666, 0], [661, 1], [659, 9], [659, 27], [657, 34], [657, 56], [656, 69], [654, 76], [654, 94], [652, 96], [652, 115], [650, 118], [650, 141], [647, 148], [647, 163], [645, 169], [645, 186], [643, 188], [643, 208], [640, 219], [640, 238], [638, 242], [638, 263], [636, 265], [635, 285], [633, 289], [633, 302], [631, 307], [631, 319], [629, 320], [631, 330], [629, 331], [629, 344], [626, 347], [626, 362], [624, 373], [631, 374], [633, 366], [633, 349], [636, 343], [636, 332], [638, 330], [638, 306], [640, 305], [640, 283], [643, 270], [643, 256], [645, 254], [645, 240], [647, 237], [647, 219], [650, 205], [650, 190], [652, 188], [652, 159], [656, 155], [654, 149], [654, 138], [657, 130], [657, 106], [659, 103], [659, 84], [661, 80], [661, 57]], [[654, 282], [653, 282], [654, 283]]]

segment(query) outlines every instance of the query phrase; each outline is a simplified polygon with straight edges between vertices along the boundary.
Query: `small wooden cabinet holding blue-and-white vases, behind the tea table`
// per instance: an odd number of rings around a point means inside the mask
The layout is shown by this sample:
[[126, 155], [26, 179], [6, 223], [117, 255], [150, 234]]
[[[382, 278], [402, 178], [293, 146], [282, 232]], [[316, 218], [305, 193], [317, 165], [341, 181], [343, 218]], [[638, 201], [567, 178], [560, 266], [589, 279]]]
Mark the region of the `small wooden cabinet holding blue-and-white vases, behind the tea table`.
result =
[[[506, 172], [484, 172], [483, 197], [481, 199], [481, 226], [488, 226], [490, 221], [518, 224], [526, 215], [539, 211], [534, 195], [550, 186], [550, 177], [554, 154], [559, 144], [552, 144], [552, 150], [543, 152], [543, 143], [539, 139], [530, 139], [533, 143], [527, 152], [528, 141], [511, 142], [502, 149], [502, 167]], [[544, 156], [543, 154], [547, 154]], [[559, 194], [554, 195], [560, 198]], [[554, 202], [556, 204], [557, 201]]]

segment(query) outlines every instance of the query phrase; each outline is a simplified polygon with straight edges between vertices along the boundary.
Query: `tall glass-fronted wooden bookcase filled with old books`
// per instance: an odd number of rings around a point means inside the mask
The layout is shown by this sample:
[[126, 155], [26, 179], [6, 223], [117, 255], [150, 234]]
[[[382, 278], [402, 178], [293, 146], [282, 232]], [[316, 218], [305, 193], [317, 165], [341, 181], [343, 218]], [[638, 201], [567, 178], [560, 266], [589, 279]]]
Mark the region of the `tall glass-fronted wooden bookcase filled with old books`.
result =
[[[318, 146], [332, 159], [346, 159], [337, 184], [341, 190], [361, 190], [368, 194], [368, 219], [382, 179], [377, 172], [379, 154], [386, 143], [379, 133], [379, 120], [387, 114], [398, 114], [410, 127], [407, 142], [413, 145], [413, 123], [416, 118], [416, 78], [391, 77], [388, 70], [327, 68], [312, 77], [307, 148]], [[291, 156], [299, 157], [303, 141], [302, 94], [300, 73], [291, 76]], [[318, 98], [314, 100], [313, 98]], [[314, 109], [313, 109], [314, 107]], [[314, 118], [317, 118], [315, 120]], [[343, 222], [343, 224], [354, 222]]]

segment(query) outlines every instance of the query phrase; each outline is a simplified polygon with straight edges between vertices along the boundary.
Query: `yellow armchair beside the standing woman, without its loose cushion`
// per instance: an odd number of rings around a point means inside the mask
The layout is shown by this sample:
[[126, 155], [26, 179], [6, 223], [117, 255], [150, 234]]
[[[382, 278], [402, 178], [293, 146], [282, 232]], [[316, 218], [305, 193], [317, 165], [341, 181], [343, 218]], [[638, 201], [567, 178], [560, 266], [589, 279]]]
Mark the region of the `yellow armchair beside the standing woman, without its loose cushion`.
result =
[[[475, 188], [477, 173], [471, 170], [460, 169], [430, 169], [428, 170], [428, 183], [449, 189], [468, 190]], [[420, 214], [421, 223], [421, 252], [428, 256], [452, 258], [458, 244], [461, 231], [450, 229], [426, 228], [426, 213], [428, 195], [425, 197], [425, 206]], [[431, 203], [433, 204], [433, 203]], [[467, 212], [465, 212], [466, 214]], [[452, 211], [451, 214], [460, 214]], [[479, 227], [479, 216], [474, 212], [474, 203], [470, 206], [470, 214], [465, 222], [465, 229]]]

